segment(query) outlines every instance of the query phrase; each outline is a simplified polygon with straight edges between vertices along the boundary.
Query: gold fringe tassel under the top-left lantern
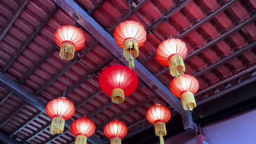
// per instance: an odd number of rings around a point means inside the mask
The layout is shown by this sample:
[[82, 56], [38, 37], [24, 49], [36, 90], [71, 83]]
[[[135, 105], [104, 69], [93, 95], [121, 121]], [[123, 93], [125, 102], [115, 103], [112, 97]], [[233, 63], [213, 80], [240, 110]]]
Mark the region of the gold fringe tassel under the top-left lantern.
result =
[[59, 56], [62, 59], [70, 61], [71, 59], [74, 58], [74, 51], [75, 51], [74, 45], [72, 43], [66, 42], [61, 45], [61, 50], [60, 50]]

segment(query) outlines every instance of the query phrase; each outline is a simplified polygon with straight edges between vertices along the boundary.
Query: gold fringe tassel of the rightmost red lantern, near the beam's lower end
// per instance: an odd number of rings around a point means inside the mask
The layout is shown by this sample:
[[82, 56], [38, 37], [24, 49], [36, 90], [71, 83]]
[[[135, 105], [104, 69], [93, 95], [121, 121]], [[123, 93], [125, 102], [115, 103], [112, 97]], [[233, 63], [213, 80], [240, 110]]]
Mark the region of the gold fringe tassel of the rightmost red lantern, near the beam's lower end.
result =
[[196, 102], [194, 94], [191, 92], [185, 92], [181, 95], [182, 106], [184, 110], [193, 112], [194, 107], [196, 107]]

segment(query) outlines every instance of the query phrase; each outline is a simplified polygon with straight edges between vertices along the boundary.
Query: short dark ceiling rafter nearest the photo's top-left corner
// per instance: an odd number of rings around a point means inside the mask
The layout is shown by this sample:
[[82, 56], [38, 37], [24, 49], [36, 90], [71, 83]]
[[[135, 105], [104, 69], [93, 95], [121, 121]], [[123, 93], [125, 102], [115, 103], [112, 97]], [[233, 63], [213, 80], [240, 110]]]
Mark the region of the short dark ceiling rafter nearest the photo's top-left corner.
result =
[[4, 38], [5, 34], [7, 34], [7, 32], [9, 31], [9, 29], [11, 28], [11, 26], [13, 26], [14, 22], [18, 19], [18, 17], [20, 16], [21, 12], [23, 11], [24, 8], [26, 8], [28, 2], [30, 2], [30, 0], [25, 0], [22, 5], [20, 6], [19, 10], [15, 13], [15, 15], [13, 16], [13, 19], [11, 19], [8, 22], [8, 25], [4, 28], [4, 31], [2, 32], [2, 34], [0, 35], [0, 41], [2, 41], [2, 39]]

